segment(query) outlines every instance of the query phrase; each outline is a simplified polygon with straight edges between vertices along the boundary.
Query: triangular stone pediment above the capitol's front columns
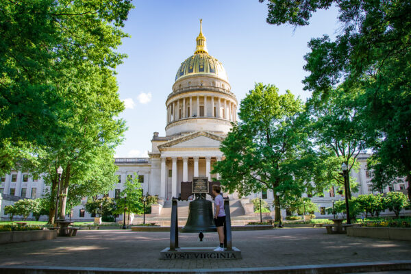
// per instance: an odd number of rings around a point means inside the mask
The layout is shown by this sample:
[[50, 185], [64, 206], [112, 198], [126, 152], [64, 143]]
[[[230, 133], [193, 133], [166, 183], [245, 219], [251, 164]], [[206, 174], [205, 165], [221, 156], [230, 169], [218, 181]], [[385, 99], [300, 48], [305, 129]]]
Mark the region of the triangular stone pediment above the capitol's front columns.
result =
[[223, 137], [210, 132], [195, 132], [159, 145], [159, 149], [181, 147], [220, 147]]

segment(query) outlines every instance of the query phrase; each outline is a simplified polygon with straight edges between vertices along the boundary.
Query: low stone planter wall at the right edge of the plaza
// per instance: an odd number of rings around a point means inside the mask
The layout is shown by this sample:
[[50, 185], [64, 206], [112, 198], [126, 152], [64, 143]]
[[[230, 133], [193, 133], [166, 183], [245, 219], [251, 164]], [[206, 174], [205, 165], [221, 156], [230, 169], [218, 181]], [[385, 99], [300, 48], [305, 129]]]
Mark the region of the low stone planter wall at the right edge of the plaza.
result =
[[347, 236], [411, 240], [411, 228], [404, 227], [347, 227]]

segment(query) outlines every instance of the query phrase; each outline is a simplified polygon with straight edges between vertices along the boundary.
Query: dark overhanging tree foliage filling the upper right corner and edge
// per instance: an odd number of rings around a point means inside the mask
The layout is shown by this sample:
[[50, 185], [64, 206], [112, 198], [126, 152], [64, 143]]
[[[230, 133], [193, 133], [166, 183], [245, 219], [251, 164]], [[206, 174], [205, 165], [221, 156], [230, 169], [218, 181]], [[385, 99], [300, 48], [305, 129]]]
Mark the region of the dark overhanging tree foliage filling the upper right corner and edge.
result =
[[411, 182], [411, 5], [401, 0], [271, 0], [267, 22], [308, 25], [313, 12], [332, 5], [339, 8], [341, 32], [334, 41], [323, 36], [309, 42], [304, 88], [322, 99], [338, 84], [358, 93], [368, 146], [377, 160], [372, 168], [388, 176], [379, 182], [390, 184], [395, 177]]

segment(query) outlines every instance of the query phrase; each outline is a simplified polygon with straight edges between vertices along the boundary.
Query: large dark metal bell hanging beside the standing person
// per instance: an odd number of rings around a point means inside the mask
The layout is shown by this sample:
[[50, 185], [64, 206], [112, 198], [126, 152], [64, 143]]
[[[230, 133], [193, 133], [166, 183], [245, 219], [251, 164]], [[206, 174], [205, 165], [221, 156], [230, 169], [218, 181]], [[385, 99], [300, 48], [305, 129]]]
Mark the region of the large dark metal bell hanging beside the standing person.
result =
[[188, 219], [182, 228], [184, 233], [216, 232], [212, 214], [212, 203], [206, 199], [190, 201], [188, 205]]

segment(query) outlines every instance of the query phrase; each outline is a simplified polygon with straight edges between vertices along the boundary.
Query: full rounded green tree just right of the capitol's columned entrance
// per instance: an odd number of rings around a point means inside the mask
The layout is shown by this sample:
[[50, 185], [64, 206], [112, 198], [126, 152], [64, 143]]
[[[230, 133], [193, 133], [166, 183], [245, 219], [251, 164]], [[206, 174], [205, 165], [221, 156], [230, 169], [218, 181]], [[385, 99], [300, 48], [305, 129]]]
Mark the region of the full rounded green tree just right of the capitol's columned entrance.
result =
[[[240, 103], [240, 122], [221, 142], [225, 159], [214, 164], [229, 192], [242, 196], [262, 189], [274, 193], [275, 220], [279, 221], [279, 192], [301, 196], [310, 182], [312, 154], [300, 119], [303, 103], [290, 91], [278, 94], [272, 85], [256, 84]], [[310, 152], [310, 151], [309, 151]]]

